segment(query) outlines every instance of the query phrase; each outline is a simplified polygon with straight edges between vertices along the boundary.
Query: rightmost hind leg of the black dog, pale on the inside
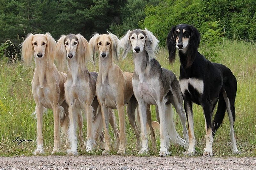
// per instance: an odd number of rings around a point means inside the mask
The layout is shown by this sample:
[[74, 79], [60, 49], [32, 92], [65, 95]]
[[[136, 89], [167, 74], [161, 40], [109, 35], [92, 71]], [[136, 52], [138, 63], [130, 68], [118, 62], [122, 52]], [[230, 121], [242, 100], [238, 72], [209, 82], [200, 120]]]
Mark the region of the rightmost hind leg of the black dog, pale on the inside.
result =
[[[227, 111], [228, 111], [228, 118], [229, 118], [229, 123], [230, 123], [230, 139], [231, 139], [231, 147], [232, 147], [232, 152], [235, 154], [240, 154], [240, 151], [237, 150], [236, 147], [236, 137], [235, 137], [235, 132], [234, 132], [234, 122], [236, 119], [235, 116], [235, 97], [232, 97], [230, 94], [224, 90], [223, 91], [223, 96], [227, 105]], [[229, 97], [228, 97], [229, 96]]]

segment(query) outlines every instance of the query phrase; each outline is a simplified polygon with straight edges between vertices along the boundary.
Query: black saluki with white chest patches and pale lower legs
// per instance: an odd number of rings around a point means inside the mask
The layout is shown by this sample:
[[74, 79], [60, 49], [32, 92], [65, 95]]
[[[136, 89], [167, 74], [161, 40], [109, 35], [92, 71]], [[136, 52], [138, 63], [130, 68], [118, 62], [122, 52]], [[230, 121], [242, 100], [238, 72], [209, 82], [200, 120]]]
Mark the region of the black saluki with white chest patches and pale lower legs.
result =
[[[211, 63], [201, 55], [197, 51], [199, 43], [200, 33], [194, 26], [187, 24], [172, 27], [167, 36], [170, 63], [175, 60], [176, 48], [180, 55], [180, 87], [189, 129], [189, 147], [184, 154], [195, 154], [192, 103], [201, 105], [204, 111], [206, 146], [203, 156], [212, 156], [213, 137], [223, 121], [226, 109], [230, 122], [232, 151], [239, 153], [234, 132], [236, 78], [226, 66]], [[218, 108], [212, 122], [212, 113], [217, 102]]]

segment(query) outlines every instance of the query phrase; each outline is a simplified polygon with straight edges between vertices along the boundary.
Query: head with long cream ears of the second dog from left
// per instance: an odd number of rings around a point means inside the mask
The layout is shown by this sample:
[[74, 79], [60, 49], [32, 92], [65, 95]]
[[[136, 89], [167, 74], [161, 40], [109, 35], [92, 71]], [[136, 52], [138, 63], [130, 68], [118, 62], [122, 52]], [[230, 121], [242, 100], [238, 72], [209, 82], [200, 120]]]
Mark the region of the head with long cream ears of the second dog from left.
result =
[[60, 70], [64, 70], [66, 58], [75, 59], [80, 66], [89, 60], [94, 64], [89, 42], [81, 34], [62, 35], [57, 41], [55, 55]]

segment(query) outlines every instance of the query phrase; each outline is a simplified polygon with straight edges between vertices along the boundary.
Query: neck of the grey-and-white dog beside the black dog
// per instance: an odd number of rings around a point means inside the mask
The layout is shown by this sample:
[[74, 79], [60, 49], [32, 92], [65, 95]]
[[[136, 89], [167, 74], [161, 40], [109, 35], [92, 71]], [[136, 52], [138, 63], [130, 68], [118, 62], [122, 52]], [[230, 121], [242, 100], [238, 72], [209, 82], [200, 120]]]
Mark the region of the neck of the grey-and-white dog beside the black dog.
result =
[[150, 61], [146, 50], [140, 53], [133, 53], [134, 58], [134, 76], [139, 76], [140, 82], [144, 81], [145, 75], [150, 74]]

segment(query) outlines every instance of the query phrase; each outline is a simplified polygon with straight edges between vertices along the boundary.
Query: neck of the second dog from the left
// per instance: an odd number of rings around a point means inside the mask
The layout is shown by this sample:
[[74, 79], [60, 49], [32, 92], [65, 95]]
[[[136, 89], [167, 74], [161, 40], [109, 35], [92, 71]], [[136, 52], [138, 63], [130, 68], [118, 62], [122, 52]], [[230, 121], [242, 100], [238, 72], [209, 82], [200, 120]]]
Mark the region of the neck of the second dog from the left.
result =
[[85, 65], [80, 65], [77, 57], [68, 59], [68, 74], [71, 75], [73, 85], [76, 85], [76, 82], [78, 81], [79, 78], [86, 78], [89, 76], [89, 71], [86, 68]]

